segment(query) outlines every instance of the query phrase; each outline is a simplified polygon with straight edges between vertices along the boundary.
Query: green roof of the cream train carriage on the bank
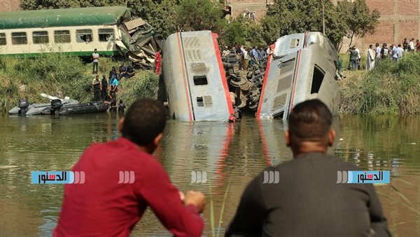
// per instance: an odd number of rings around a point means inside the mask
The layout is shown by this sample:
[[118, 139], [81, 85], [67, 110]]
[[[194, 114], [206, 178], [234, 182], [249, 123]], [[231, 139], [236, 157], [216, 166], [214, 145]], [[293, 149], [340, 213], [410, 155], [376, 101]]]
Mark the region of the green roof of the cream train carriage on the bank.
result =
[[114, 25], [131, 20], [130, 8], [104, 6], [0, 13], [0, 29]]

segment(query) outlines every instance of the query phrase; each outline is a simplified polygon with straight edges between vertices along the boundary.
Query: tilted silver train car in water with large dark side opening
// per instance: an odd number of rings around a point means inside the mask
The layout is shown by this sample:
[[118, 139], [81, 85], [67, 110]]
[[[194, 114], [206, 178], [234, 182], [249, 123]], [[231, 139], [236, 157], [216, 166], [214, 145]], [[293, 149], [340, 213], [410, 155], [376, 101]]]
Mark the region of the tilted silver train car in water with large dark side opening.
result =
[[269, 56], [257, 118], [283, 118], [295, 104], [317, 98], [338, 113], [338, 55], [320, 32], [282, 36]]

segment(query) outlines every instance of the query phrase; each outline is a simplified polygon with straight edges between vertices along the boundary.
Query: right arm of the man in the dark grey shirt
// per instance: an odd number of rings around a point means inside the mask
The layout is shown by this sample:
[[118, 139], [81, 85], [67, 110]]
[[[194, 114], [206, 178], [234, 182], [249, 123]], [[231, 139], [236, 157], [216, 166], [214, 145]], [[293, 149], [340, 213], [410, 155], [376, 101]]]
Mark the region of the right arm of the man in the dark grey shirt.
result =
[[366, 187], [367, 193], [370, 196], [370, 202], [368, 203], [370, 228], [375, 231], [376, 236], [391, 236], [384, 212], [382, 212], [381, 202], [379, 201], [373, 185], [366, 184]]

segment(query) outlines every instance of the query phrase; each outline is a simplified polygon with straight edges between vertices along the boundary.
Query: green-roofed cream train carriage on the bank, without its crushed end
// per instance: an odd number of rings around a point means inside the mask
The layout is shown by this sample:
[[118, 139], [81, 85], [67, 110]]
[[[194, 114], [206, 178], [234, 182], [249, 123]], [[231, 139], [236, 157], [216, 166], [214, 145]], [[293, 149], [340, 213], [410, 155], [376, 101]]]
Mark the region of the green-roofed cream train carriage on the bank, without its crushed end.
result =
[[130, 9], [121, 6], [68, 8], [0, 14], [2, 55], [36, 56], [62, 52], [77, 56], [116, 55], [118, 25], [131, 20]]

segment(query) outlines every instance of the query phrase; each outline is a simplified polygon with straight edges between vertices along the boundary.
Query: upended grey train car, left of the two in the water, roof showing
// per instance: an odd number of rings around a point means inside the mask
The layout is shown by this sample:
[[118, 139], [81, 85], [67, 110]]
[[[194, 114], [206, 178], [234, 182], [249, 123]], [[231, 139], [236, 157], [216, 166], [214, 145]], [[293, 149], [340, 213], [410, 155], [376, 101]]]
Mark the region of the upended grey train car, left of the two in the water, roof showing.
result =
[[169, 115], [183, 121], [226, 121], [234, 113], [217, 34], [168, 36], [162, 58]]

